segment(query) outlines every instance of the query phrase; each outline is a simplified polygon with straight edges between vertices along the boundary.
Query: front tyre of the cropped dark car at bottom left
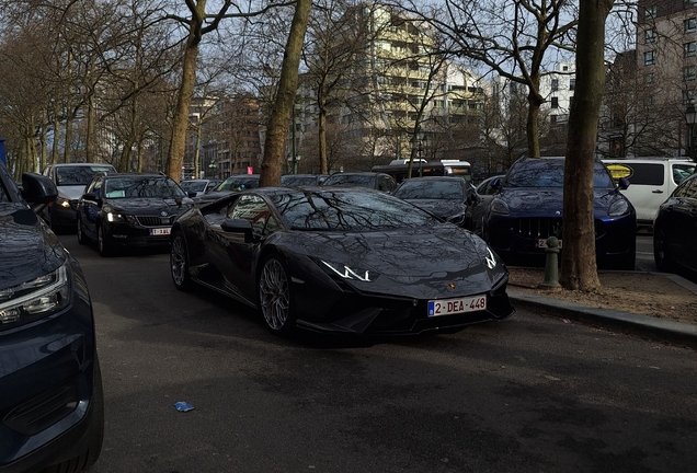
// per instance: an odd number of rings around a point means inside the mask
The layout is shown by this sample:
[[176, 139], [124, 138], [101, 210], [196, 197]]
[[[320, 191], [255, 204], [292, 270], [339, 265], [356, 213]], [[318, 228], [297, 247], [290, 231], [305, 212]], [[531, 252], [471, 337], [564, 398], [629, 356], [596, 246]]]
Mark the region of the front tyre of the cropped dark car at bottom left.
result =
[[94, 392], [92, 394], [92, 424], [90, 425], [90, 443], [78, 457], [50, 465], [43, 473], [80, 472], [88, 469], [100, 457], [104, 441], [104, 392], [102, 371], [99, 359], [94, 358]]

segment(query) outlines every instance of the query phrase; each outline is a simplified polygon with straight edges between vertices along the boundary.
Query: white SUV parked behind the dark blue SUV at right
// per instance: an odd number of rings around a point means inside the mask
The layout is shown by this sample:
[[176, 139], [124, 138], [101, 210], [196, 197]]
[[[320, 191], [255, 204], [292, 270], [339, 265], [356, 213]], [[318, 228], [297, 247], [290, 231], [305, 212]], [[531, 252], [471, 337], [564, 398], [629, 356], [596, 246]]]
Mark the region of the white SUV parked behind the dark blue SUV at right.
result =
[[622, 194], [635, 206], [637, 223], [642, 227], [653, 227], [661, 204], [695, 172], [695, 162], [683, 158], [613, 158], [603, 162], [615, 181], [629, 181]]

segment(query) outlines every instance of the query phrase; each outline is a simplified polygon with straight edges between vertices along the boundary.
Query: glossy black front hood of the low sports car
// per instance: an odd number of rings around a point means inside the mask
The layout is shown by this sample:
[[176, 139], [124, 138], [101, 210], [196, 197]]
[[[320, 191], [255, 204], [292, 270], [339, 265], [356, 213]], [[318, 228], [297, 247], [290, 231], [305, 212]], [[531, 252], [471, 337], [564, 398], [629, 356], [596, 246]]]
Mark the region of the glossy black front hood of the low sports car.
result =
[[312, 249], [307, 255], [315, 261], [346, 265], [361, 275], [367, 270], [369, 281], [345, 280], [365, 292], [431, 299], [473, 295], [489, 290], [506, 272], [501, 263], [493, 270], [488, 267], [485, 246], [478, 247], [470, 233], [449, 224], [408, 233], [308, 231], [292, 238], [296, 250]]

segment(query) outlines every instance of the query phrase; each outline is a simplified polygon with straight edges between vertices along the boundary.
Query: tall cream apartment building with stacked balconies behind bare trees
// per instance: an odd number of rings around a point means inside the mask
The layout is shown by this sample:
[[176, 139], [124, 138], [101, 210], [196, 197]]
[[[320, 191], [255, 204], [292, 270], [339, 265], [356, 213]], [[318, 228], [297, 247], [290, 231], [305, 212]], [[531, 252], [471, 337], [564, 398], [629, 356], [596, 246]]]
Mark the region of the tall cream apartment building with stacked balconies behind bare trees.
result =
[[[362, 54], [345, 74], [342, 100], [334, 101], [328, 117], [333, 132], [341, 136], [345, 155], [330, 165], [366, 170], [408, 159], [415, 129], [423, 136], [422, 158], [453, 159], [456, 129], [481, 115], [485, 91], [481, 79], [435, 54], [430, 26], [399, 9], [363, 4], [346, 15], [353, 19], [344, 24], [368, 33]], [[317, 131], [316, 96], [311, 81], [301, 81], [298, 149], [311, 143]], [[302, 154], [305, 160], [307, 151]]]

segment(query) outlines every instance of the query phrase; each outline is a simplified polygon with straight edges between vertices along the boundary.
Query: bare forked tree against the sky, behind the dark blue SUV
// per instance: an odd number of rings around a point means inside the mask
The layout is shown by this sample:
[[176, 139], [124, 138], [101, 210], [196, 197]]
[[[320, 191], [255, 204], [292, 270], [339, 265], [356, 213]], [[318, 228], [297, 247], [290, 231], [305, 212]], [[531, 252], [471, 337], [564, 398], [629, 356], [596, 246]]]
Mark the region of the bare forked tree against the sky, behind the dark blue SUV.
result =
[[484, 65], [527, 88], [527, 154], [539, 157], [539, 112], [545, 97], [540, 78], [553, 61], [575, 47], [576, 2], [571, 0], [445, 0], [427, 13], [410, 0], [409, 9], [431, 22], [452, 54]]

